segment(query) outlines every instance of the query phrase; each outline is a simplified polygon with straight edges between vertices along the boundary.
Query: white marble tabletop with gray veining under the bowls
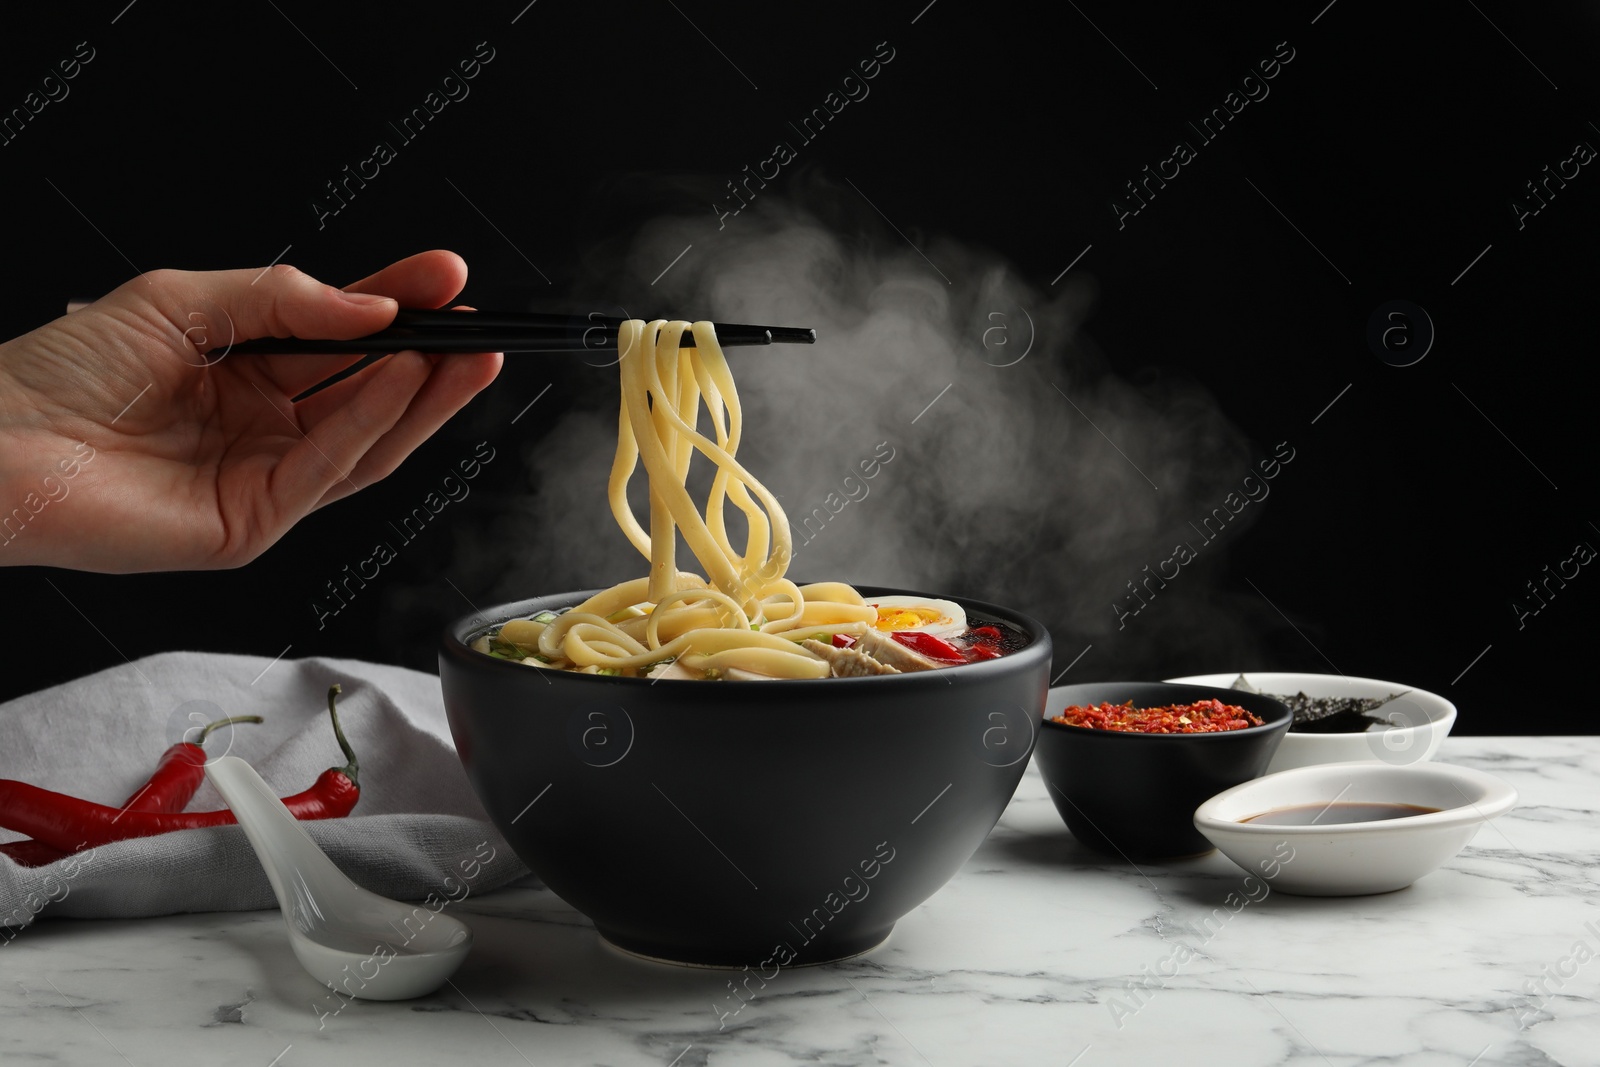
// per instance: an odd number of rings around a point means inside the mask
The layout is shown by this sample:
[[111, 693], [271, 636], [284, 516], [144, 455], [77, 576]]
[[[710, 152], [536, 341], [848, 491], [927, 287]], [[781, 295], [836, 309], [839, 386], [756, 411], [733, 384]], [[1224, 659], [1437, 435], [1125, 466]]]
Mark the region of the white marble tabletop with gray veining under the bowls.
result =
[[1518, 806], [1414, 886], [1355, 899], [1262, 894], [1218, 853], [1107, 862], [1029, 769], [888, 944], [784, 971], [749, 1003], [726, 971], [606, 949], [531, 888], [453, 905], [472, 957], [405, 1003], [318, 987], [277, 912], [46, 912], [0, 947], [0, 1062], [1600, 1062], [1600, 737], [1451, 737], [1440, 758], [1504, 777]]

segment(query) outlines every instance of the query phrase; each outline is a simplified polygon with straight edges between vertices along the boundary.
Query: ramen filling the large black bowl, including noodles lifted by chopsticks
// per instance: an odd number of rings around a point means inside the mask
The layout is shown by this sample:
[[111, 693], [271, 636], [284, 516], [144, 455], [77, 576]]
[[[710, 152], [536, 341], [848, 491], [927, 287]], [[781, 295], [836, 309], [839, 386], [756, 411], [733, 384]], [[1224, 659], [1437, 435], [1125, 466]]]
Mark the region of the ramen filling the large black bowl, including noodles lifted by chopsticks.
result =
[[[693, 347], [683, 347], [683, 334]], [[968, 617], [949, 600], [862, 597], [843, 582], [797, 585], [789, 518], [736, 459], [744, 418], [709, 322], [618, 328], [622, 403], [608, 498], [622, 534], [650, 561], [563, 611], [510, 619], [472, 648], [550, 670], [632, 678], [854, 678], [939, 670], [995, 659], [1027, 643], [1021, 630]], [[702, 434], [701, 427], [710, 430]], [[704, 502], [688, 491], [691, 462], [709, 462]], [[643, 466], [650, 512], [627, 501]], [[739, 510], [742, 545], [728, 536]], [[704, 574], [678, 568], [678, 542]]]

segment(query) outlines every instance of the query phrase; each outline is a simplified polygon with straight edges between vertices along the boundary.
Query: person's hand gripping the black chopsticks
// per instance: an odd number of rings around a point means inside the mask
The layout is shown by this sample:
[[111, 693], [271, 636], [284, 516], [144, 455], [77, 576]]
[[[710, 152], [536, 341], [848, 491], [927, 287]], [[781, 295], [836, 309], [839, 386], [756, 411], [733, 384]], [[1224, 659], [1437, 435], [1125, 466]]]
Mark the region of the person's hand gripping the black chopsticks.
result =
[[488, 386], [498, 352], [224, 355], [253, 338], [360, 338], [443, 307], [467, 267], [427, 251], [344, 291], [288, 266], [157, 270], [0, 344], [0, 565], [240, 566], [378, 482]]

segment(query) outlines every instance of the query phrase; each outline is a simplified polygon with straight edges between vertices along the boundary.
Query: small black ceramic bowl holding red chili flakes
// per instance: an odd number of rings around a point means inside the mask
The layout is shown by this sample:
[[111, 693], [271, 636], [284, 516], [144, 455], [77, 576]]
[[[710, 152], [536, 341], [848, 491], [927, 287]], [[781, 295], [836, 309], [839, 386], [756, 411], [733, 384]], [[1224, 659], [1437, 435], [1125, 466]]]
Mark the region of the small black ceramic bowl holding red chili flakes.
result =
[[[1074, 704], [1160, 707], [1216, 697], [1254, 712], [1261, 726], [1210, 734], [1138, 734], [1051, 721]], [[1072, 835], [1128, 859], [1211, 851], [1194, 813], [1224, 789], [1259, 777], [1290, 728], [1286, 705], [1259, 693], [1166, 681], [1090, 681], [1050, 691], [1038, 769]]]

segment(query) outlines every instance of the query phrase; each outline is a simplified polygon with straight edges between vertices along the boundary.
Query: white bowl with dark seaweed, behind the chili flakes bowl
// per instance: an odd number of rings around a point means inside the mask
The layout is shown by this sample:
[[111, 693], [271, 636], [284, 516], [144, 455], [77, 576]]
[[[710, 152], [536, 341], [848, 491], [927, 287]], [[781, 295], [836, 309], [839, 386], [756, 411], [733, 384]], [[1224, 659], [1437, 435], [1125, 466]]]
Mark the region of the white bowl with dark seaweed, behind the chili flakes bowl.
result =
[[1282, 670], [1168, 678], [1224, 689], [1245, 688], [1240, 680], [1294, 712], [1267, 774], [1350, 760], [1382, 760], [1395, 766], [1421, 763], [1434, 758], [1456, 723], [1454, 704], [1398, 681]]

